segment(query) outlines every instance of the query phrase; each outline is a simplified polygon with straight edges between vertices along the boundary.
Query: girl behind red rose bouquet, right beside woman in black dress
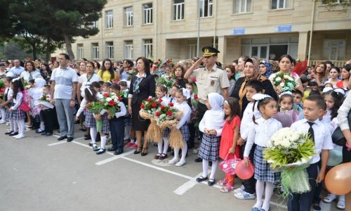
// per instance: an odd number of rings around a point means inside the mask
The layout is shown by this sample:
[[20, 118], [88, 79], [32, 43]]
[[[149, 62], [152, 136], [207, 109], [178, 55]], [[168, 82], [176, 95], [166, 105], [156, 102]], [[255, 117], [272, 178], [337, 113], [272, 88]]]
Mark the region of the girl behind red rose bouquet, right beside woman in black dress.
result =
[[[167, 97], [167, 87], [164, 84], [157, 84], [156, 86], [156, 97], [157, 101], [161, 102], [161, 107], [164, 108], [168, 106], [168, 97]], [[171, 130], [167, 127], [164, 129], [164, 138], [163, 141], [159, 141], [157, 143], [157, 154], [154, 155], [154, 159], [164, 160], [167, 158], [167, 150], [168, 150], [168, 136]], [[163, 146], [163, 147], [162, 147]]]

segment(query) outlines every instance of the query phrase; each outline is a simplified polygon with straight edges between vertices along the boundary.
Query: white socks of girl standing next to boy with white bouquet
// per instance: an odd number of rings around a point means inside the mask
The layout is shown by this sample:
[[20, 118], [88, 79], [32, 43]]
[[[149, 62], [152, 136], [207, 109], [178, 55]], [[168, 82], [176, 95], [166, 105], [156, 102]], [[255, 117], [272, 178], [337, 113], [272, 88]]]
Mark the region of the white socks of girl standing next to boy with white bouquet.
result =
[[[269, 210], [270, 209], [270, 198], [272, 198], [274, 190], [274, 184], [264, 181], [256, 181], [256, 196], [257, 201], [253, 207], [258, 209]], [[265, 191], [265, 200], [262, 204], [263, 191]], [[262, 206], [262, 207], [261, 207]]]

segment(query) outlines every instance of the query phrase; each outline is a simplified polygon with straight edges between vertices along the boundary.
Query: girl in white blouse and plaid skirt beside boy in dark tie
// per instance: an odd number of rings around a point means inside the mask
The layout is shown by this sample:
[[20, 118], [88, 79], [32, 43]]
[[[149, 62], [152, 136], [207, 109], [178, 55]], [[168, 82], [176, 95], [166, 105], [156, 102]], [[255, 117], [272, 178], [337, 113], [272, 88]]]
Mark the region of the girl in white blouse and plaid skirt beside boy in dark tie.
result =
[[[252, 97], [258, 106], [261, 117], [256, 120], [253, 117], [253, 126], [249, 131], [249, 136], [244, 151], [244, 160], [246, 165], [250, 162], [249, 153], [256, 144], [255, 153], [253, 155], [253, 164], [255, 166], [256, 181], [256, 204], [253, 205], [253, 211], [270, 209], [270, 198], [273, 194], [274, 182], [280, 180], [279, 172], [274, 172], [270, 164], [263, 159], [263, 150], [267, 147], [267, 142], [272, 134], [282, 128], [282, 123], [273, 117], [277, 113], [277, 102], [268, 95], [255, 94]], [[265, 200], [262, 201], [263, 191], [265, 191]]]

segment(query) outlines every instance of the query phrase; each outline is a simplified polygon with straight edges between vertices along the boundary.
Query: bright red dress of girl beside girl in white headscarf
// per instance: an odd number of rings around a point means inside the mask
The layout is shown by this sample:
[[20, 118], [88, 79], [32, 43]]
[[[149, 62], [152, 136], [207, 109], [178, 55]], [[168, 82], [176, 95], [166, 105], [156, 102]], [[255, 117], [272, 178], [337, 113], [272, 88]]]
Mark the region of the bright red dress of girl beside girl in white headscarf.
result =
[[[233, 146], [233, 139], [234, 139], [234, 127], [240, 127], [240, 118], [238, 116], [235, 116], [230, 123], [228, 121], [225, 121], [225, 124], [223, 126], [222, 130], [222, 137], [220, 139], [220, 154], [219, 157], [222, 158], [223, 160], [225, 159], [225, 156], [227, 156], [227, 153], [230, 148]], [[237, 146], [235, 149], [235, 155], [237, 158], [240, 158], [240, 147]], [[227, 159], [232, 159], [234, 158], [234, 155], [230, 154], [228, 155]]]

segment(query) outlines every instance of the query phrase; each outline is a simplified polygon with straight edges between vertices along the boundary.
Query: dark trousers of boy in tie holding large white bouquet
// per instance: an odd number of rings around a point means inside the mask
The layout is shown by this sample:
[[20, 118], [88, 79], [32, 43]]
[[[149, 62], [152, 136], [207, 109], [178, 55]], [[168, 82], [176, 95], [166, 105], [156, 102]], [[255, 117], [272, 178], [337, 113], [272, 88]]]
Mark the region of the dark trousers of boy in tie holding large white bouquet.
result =
[[289, 211], [310, 211], [312, 206], [312, 200], [314, 196], [314, 191], [316, 188], [316, 179], [318, 175], [318, 164], [314, 163], [307, 167], [307, 174], [311, 191], [302, 194], [295, 194], [288, 196], [288, 210]]

